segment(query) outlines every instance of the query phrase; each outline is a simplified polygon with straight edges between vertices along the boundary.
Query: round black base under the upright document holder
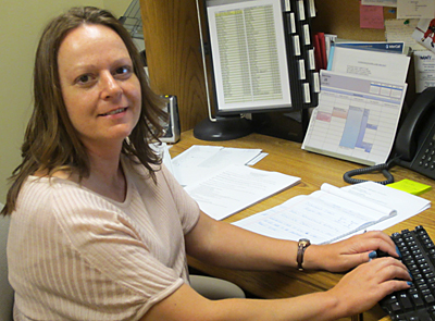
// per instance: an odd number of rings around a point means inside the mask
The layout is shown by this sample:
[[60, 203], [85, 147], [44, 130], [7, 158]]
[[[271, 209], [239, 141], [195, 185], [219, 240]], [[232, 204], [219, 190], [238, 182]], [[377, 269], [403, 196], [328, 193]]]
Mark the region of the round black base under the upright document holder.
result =
[[247, 136], [253, 132], [251, 121], [237, 116], [217, 116], [215, 122], [206, 119], [194, 128], [194, 136], [201, 140], [220, 141]]

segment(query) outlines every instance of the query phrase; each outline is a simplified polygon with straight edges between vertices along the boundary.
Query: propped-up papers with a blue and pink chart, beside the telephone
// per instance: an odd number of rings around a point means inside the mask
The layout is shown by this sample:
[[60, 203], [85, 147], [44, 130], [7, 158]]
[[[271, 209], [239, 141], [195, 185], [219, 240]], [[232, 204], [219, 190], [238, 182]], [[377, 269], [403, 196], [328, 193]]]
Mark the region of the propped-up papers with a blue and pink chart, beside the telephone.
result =
[[393, 148], [407, 92], [406, 54], [337, 47], [302, 149], [373, 165]]

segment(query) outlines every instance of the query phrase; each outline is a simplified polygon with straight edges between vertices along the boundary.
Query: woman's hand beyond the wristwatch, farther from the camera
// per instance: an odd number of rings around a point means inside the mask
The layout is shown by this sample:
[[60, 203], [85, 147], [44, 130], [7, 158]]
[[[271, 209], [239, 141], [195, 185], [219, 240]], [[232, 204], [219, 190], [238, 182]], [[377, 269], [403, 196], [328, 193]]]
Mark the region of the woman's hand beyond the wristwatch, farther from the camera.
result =
[[391, 257], [398, 257], [396, 245], [391, 238], [383, 232], [373, 231], [333, 244], [309, 246], [304, 252], [303, 267], [331, 272], [346, 272], [368, 262], [369, 254], [378, 249]]

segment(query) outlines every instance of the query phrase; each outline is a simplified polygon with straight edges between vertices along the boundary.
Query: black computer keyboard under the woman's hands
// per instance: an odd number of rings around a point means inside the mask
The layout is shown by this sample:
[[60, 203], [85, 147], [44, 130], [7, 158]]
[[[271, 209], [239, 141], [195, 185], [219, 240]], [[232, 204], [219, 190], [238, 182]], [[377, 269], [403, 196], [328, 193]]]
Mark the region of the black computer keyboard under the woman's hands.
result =
[[383, 298], [381, 307], [394, 321], [435, 321], [434, 243], [423, 226], [395, 233], [391, 238], [412, 275], [412, 285]]

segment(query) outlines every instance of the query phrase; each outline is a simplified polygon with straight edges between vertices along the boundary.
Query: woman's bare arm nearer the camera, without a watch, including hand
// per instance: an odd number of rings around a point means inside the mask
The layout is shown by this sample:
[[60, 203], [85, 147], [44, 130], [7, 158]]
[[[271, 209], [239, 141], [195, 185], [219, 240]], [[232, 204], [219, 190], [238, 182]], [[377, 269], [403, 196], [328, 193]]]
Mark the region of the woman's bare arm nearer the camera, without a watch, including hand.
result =
[[394, 291], [408, 288], [409, 273], [394, 258], [375, 259], [346, 274], [327, 292], [288, 299], [208, 300], [184, 284], [156, 304], [141, 321], [327, 321], [358, 314]]

